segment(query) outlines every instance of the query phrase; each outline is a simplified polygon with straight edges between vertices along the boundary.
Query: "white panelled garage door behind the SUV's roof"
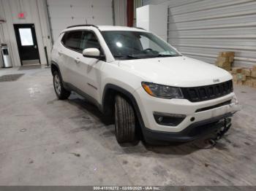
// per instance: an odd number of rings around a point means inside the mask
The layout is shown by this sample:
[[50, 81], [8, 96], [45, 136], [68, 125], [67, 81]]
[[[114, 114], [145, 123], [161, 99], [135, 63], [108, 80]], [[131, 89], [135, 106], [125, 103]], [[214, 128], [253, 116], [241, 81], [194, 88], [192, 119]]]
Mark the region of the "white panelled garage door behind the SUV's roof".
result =
[[67, 26], [113, 25], [111, 0], [47, 0], [53, 41]]

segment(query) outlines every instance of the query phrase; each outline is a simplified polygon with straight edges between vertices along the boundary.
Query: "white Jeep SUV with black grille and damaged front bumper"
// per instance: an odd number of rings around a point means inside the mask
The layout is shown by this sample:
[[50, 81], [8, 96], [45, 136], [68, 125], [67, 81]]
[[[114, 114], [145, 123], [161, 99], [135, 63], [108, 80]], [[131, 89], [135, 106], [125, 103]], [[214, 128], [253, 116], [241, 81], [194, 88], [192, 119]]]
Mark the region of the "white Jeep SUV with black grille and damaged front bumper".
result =
[[239, 109], [232, 76], [140, 28], [70, 26], [51, 54], [59, 99], [83, 95], [113, 117], [118, 143], [191, 141]]

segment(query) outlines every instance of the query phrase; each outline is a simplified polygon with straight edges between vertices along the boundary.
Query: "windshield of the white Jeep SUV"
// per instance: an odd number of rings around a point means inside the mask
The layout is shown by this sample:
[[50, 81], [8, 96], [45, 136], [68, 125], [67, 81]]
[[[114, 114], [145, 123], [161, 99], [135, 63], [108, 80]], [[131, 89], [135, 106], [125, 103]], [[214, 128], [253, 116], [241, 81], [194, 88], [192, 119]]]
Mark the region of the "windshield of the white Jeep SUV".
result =
[[114, 58], [173, 57], [180, 54], [154, 34], [140, 31], [102, 31]]

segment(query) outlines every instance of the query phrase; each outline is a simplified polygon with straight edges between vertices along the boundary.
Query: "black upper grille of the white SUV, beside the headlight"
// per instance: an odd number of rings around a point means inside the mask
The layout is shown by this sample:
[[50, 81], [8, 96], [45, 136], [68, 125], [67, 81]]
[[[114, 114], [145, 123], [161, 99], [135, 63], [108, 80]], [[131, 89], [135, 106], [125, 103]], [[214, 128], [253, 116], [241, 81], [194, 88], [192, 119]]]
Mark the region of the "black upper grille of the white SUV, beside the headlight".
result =
[[216, 85], [181, 87], [184, 98], [192, 102], [207, 101], [233, 92], [232, 80]]

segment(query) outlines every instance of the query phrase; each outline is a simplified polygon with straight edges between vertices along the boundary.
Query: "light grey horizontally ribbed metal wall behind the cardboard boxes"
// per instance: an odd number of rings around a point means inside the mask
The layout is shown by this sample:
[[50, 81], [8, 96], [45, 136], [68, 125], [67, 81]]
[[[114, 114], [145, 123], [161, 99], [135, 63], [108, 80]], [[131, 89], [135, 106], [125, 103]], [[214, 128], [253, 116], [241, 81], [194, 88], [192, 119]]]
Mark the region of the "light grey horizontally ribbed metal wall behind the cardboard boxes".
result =
[[236, 52], [236, 66], [256, 63], [255, 0], [172, 0], [168, 42], [184, 55], [214, 63], [220, 51]]

